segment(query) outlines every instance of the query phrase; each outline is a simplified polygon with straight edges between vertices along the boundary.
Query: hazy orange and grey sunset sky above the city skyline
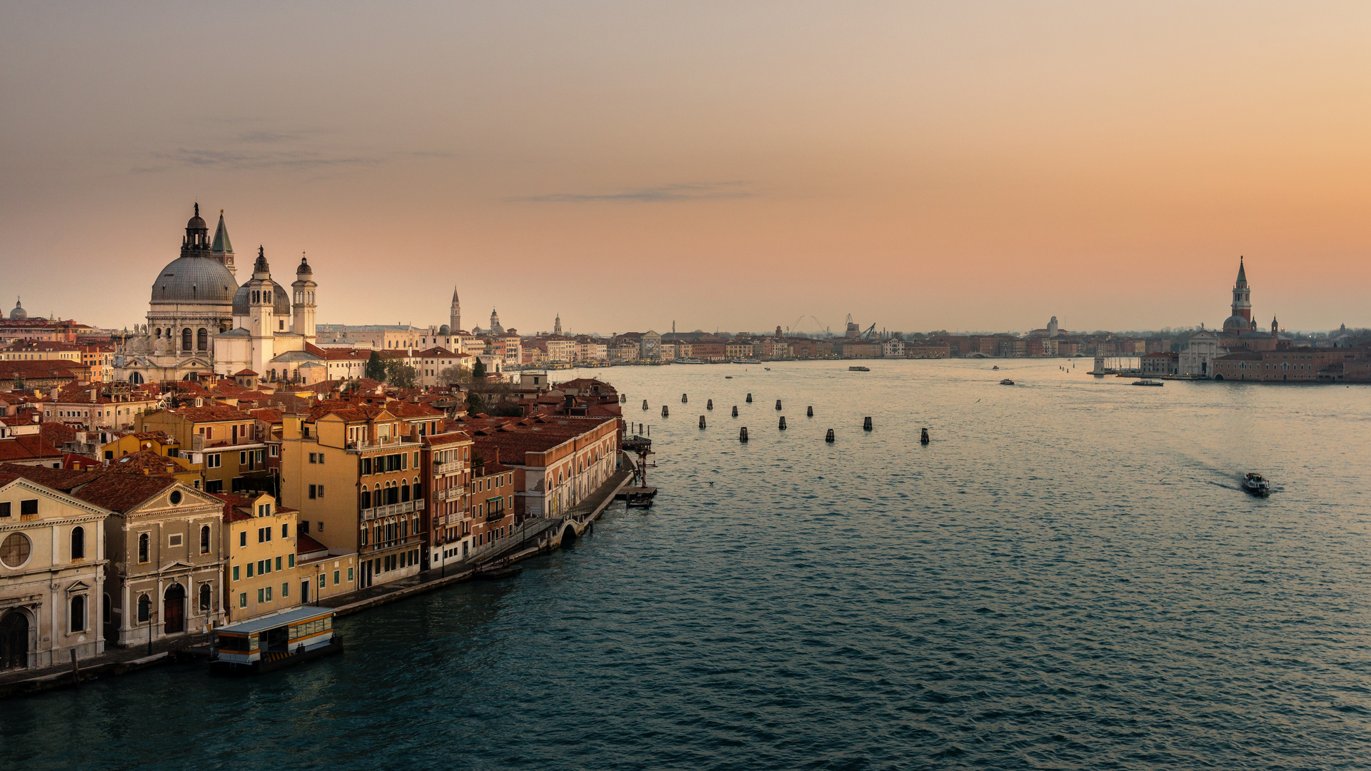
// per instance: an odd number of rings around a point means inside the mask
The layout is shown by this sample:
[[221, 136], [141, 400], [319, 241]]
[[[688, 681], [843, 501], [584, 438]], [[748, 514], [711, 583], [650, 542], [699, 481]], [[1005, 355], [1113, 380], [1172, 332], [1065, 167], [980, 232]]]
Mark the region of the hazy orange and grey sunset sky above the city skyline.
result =
[[0, 305], [144, 322], [192, 204], [318, 320], [1371, 325], [1371, 4], [5, 3]]

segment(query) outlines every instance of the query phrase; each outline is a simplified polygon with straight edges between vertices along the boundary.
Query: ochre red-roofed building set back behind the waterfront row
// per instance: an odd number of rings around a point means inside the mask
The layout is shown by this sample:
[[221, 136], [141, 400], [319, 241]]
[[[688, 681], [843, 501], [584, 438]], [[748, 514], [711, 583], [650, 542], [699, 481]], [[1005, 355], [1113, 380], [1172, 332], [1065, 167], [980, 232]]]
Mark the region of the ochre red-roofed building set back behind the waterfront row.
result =
[[222, 405], [178, 407], [138, 416], [138, 432], [162, 431], [177, 440], [178, 457], [203, 464], [206, 493], [267, 486], [266, 444], [256, 420]]

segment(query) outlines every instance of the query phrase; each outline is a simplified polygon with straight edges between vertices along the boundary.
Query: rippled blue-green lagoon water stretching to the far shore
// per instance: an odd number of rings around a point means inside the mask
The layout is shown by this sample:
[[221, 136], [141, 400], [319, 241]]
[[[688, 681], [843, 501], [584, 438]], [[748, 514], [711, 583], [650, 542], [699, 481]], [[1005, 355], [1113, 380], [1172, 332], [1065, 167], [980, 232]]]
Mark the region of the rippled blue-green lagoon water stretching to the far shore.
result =
[[0, 704], [4, 767], [1371, 764], [1371, 388], [847, 364], [594, 370], [651, 425], [650, 512], [332, 660]]

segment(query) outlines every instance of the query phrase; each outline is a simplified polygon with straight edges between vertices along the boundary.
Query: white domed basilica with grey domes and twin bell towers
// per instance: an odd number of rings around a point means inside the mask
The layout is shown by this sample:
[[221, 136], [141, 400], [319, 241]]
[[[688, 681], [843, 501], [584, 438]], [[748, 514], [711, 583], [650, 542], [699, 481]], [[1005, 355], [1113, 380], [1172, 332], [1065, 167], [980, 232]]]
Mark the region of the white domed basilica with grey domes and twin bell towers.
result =
[[195, 204], [181, 257], [152, 283], [148, 322], [134, 327], [117, 357], [118, 376], [132, 383], [207, 372], [266, 381], [313, 381], [313, 372], [322, 377], [324, 357], [313, 346], [317, 285], [310, 263], [300, 258], [289, 292], [271, 280], [260, 247], [252, 277], [240, 287], [236, 273], [223, 211], [211, 240]]

